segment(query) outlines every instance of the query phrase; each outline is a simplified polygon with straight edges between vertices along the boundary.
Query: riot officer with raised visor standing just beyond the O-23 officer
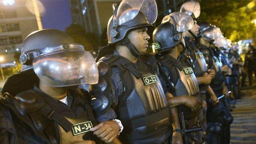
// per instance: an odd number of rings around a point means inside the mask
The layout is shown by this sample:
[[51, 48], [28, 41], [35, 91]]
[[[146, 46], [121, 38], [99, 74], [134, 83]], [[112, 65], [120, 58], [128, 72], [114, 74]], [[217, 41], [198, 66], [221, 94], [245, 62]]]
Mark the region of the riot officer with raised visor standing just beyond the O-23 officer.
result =
[[[196, 42], [196, 35], [198, 35], [199, 26], [197, 24], [197, 20], [199, 19], [200, 15], [200, 4], [195, 1], [189, 1], [182, 4], [180, 12], [185, 12], [186, 14], [190, 15], [194, 20], [194, 26], [183, 33], [186, 48], [182, 53], [188, 54], [192, 59], [192, 63], [194, 65], [194, 73], [196, 75], [200, 92], [203, 96], [203, 99], [206, 99], [206, 90], [210, 95], [211, 100], [214, 102], [217, 100], [214, 105], [218, 104], [218, 99], [212, 89], [210, 88], [209, 84], [215, 76], [214, 70], [208, 70], [205, 59], [203, 54], [200, 50], [195, 46]], [[201, 111], [201, 124], [204, 128], [204, 140], [206, 140], [206, 108]]]

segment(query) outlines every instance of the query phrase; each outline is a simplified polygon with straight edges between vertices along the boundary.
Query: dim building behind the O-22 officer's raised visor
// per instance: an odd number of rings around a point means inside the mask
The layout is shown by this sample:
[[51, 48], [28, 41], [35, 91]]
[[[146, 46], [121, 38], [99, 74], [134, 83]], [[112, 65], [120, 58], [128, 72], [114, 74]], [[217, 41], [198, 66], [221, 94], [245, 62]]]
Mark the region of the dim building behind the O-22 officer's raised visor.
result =
[[[116, 4], [121, 0], [70, 0], [72, 24], [78, 24], [97, 36], [106, 37], [106, 27]], [[175, 12], [185, 0], [157, 0], [158, 21]], [[158, 23], [156, 23], [157, 25]]]

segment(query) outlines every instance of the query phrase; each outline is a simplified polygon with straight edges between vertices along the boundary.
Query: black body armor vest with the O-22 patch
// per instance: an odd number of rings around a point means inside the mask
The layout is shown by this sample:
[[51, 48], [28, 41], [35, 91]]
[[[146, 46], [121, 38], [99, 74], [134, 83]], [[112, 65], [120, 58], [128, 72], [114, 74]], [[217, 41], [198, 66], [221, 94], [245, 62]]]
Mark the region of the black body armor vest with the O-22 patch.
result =
[[166, 134], [171, 124], [170, 109], [154, 56], [141, 56], [140, 64], [118, 55], [108, 55], [99, 61], [110, 68], [117, 67], [124, 84], [115, 110], [124, 126], [120, 140], [128, 142]]

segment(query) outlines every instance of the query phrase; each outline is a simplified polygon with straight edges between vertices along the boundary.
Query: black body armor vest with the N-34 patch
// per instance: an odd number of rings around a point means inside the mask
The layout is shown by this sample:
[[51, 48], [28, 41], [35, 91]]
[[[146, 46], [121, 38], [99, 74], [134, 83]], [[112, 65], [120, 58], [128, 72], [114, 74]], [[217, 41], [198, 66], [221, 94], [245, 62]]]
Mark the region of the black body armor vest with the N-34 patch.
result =
[[[32, 143], [70, 144], [93, 140], [101, 144], [101, 140], [90, 132], [90, 128], [97, 124], [89, 105], [90, 96], [78, 89], [69, 92], [73, 97], [72, 111], [65, 111], [64, 107], [56, 110], [55, 106], [46, 102], [43, 93], [34, 90], [21, 92], [15, 97], [5, 94], [6, 98], [0, 99], [0, 102], [10, 111], [10, 118], [18, 134], [16, 138]], [[69, 112], [74, 114], [64, 115]], [[20, 124], [24, 124], [23, 128], [19, 128]], [[22, 133], [24, 135], [20, 135]]]

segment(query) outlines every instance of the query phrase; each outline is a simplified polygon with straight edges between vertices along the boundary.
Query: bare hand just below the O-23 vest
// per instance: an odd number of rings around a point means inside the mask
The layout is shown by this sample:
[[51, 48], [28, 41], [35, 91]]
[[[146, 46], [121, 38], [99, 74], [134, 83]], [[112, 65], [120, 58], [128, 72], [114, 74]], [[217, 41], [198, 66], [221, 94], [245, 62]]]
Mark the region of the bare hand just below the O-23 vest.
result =
[[198, 110], [201, 108], [201, 101], [195, 96], [182, 96], [182, 103], [191, 108], [192, 110]]

